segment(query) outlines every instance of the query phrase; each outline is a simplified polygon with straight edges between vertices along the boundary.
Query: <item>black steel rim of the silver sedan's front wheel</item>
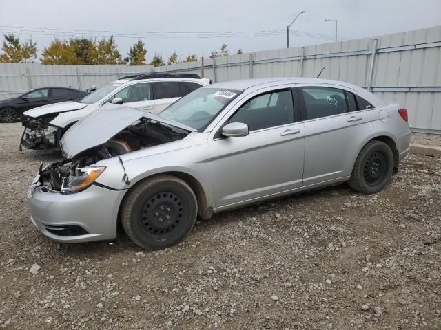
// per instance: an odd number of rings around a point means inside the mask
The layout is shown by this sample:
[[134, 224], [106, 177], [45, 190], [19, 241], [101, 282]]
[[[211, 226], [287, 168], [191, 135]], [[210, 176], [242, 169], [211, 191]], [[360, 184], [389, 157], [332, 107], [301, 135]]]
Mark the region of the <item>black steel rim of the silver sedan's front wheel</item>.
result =
[[176, 192], [156, 192], [144, 203], [141, 224], [148, 234], [165, 236], [183, 225], [184, 211], [183, 201]]

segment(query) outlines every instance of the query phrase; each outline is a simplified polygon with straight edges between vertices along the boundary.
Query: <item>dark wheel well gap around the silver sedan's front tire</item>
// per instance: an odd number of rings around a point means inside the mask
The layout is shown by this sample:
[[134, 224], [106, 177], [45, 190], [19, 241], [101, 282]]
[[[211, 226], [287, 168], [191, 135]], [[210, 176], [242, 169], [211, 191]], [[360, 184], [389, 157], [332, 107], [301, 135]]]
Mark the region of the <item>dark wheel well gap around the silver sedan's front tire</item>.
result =
[[[207, 200], [207, 195], [205, 194], [205, 190], [203, 189], [201, 183], [192, 175], [189, 175], [187, 173], [184, 172], [164, 172], [164, 173], [157, 173], [155, 175], [152, 175], [150, 177], [145, 177], [144, 179], [136, 182], [136, 184], [134, 184], [134, 186], [130, 187], [129, 191], [134, 189], [135, 186], [139, 185], [141, 182], [143, 182], [146, 179], [151, 179], [154, 176], [157, 175], [173, 175], [174, 177], [178, 177], [179, 179], [185, 181], [186, 184], [188, 184], [190, 186], [190, 188], [192, 188], [194, 194], [196, 195], [196, 199], [198, 201], [198, 215], [199, 217], [201, 217], [202, 219], [209, 219], [212, 217], [213, 215], [213, 208], [211, 206], [208, 206], [208, 200]], [[128, 191], [127, 191], [128, 192]], [[127, 196], [127, 192], [125, 193], [125, 196]], [[124, 197], [125, 199], [125, 197]], [[120, 212], [121, 212], [121, 206], [123, 205], [123, 201], [121, 201], [120, 203], [120, 210], [119, 210], [119, 214], [118, 214], [118, 222], [119, 222], [119, 226], [121, 224], [121, 218], [120, 218]]]

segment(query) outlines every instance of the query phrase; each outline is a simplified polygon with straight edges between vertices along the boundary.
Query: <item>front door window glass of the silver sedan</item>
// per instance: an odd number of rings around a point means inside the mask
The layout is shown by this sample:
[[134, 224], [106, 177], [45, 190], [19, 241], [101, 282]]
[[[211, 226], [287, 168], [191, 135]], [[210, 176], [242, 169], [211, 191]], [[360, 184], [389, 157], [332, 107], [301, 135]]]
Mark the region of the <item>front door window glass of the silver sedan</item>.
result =
[[291, 90], [272, 91], [252, 98], [228, 122], [243, 122], [248, 125], [249, 131], [294, 122]]

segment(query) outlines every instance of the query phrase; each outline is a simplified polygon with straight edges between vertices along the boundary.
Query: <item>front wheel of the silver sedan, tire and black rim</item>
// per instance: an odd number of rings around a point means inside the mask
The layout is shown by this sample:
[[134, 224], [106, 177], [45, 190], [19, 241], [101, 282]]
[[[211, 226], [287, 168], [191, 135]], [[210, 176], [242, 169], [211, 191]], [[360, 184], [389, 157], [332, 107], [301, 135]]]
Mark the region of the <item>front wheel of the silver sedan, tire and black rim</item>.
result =
[[127, 193], [121, 224], [136, 245], [161, 250], [182, 241], [197, 214], [192, 188], [177, 177], [161, 175], [142, 181]]

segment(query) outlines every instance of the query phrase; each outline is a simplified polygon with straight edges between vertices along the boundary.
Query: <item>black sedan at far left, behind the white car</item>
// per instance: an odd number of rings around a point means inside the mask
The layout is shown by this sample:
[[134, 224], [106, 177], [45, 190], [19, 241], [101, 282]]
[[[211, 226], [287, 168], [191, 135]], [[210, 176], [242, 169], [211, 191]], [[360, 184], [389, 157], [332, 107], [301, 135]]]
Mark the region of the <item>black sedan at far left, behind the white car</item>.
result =
[[0, 122], [15, 122], [24, 111], [70, 100], [81, 100], [88, 92], [68, 87], [43, 87], [32, 89], [25, 94], [0, 100]]

